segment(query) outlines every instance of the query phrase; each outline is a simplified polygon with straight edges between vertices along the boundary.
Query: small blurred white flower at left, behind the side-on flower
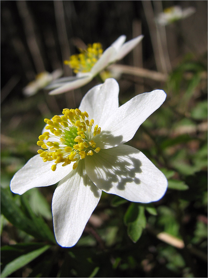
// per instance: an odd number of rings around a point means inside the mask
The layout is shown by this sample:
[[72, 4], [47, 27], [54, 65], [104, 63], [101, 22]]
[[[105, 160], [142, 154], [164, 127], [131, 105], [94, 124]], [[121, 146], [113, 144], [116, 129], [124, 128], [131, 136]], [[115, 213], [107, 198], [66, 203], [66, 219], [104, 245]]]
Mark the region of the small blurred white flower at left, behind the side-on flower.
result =
[[35, 80], [31, 81], [24, 89], [23, 94], [26, 96], [35, 95], [39, 90], [43, 89], [53, 80], [59, 78], [63, 74], [63, 71], [58, 69], [54, 70], [51, 74], [47, 71], [43, 71], [36, 75]]

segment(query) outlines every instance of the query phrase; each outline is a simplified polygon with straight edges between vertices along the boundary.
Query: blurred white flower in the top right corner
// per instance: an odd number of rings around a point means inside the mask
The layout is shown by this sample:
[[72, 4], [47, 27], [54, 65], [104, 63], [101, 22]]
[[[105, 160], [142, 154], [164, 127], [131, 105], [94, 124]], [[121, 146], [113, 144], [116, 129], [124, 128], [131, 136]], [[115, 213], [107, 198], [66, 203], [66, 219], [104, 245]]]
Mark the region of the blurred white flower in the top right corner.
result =
[[156, 21], [160, 25], [168, 25], [179, 19], [183, 19], [192, 15], [195, 11], [196, 10], [193, 7], [189, 7], [183, 10], [180, 6], [169, 7], [164, 9], [164, 12], [158, 15]]

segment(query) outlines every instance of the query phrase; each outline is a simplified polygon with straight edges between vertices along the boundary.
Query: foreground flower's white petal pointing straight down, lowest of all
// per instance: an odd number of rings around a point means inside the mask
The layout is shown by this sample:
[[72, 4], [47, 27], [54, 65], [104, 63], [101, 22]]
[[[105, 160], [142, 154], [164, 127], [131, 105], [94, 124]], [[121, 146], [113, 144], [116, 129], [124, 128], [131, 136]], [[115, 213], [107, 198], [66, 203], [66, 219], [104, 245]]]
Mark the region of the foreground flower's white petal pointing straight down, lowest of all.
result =
[[55, 238], [63, 247], [71, 247], [79, 240], [102, 193], [86, 175], [83, 166], [84, 161], [80, 161], [77, 171], [67, 175], [53, 195]]

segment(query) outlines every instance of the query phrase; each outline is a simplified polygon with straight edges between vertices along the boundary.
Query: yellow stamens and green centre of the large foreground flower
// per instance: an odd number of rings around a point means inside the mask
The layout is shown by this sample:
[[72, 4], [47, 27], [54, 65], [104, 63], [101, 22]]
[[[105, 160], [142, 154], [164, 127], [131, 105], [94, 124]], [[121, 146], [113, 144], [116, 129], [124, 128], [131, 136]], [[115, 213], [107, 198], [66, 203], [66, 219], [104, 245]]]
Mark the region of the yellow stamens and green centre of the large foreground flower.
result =
[[[96, 124], [92, 131], [94, 120], [88, 120], [88, 113], [81, 112], [78, 108], [64, 108], [62, 113], [63, 116], [55, 115], [52, 120], [44, 119], [47, 123], [45, 128], [50, 133], [44, 132], [37, 141], [37, 145], [43, 149], [38, 150], [43, 161], [55, 160], [55, 164], [51, 166], [52, 171], [56, 170], [58, 163], [66, 166], [75, 162], [75, 169], [80, 159], [100, 151], [92, 138], [100, 134], [101, 128]], [[56, 141], [49, 141], [50, 138], [56, 138]]]

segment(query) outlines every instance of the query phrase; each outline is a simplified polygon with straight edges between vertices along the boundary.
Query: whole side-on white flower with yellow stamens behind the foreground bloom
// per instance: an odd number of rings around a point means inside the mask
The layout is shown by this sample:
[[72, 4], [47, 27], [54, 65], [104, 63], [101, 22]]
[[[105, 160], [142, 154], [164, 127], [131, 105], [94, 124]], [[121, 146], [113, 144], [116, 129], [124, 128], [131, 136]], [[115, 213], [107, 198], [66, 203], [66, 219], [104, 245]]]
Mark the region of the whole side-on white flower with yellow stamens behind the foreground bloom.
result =
[[88, 46], [87, 51], [72, 55], [70, 61], [65, 61], [65, 64], [69, 64], [75, 69], [76, 77], [60, 78], [52, 83], [47, 88], [56, 89], [50, 91], [49, 94], [62, 94], [84, 86], [108, 65], [126, 56], [142, 39], [143, 35], [140, 35], [124, 43], [126, 36], [122, 35], [104, 53], [102, 53], [101, 44], [95, 43]]

